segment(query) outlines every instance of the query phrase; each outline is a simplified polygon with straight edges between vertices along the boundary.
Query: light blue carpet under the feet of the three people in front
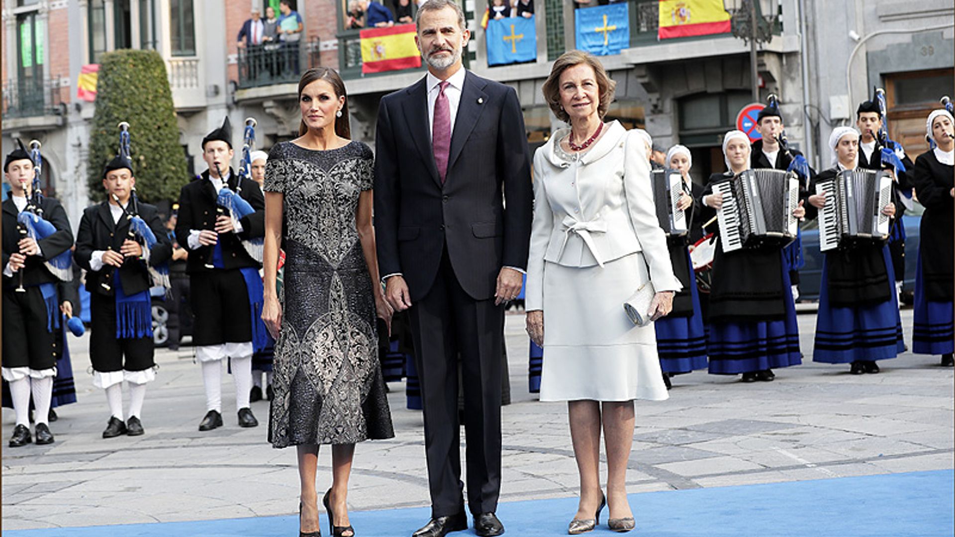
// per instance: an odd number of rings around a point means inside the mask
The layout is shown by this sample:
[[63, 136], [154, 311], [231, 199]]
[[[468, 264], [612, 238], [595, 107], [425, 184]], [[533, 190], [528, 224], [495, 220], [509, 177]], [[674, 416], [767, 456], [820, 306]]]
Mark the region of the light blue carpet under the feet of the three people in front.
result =
[[[953, 479], [955, 471], [938, 470], [631, 494], [637, 529], [630, 535], [950, 536], [955, 524]], [[504, 503], [498, 514], [506, 535], [537, 537], [566, 535], [567, 522], [576, 510], [576, 498], [562, 498]], [[429, 514], [427, 508], [353, 512], [351, 523], [360, 537], [407, 537]], [[328, 535], [324, 512], [322, 524], [323, 535]], [[296, 535], [297, 530], [295, 516], [281, 516], [3, 533], [8, 537], [284, 537]], [[591, 534], [610, 535], [611, 531], [604, 524]], [[451, 535], [474, 535], [474, 530]]]

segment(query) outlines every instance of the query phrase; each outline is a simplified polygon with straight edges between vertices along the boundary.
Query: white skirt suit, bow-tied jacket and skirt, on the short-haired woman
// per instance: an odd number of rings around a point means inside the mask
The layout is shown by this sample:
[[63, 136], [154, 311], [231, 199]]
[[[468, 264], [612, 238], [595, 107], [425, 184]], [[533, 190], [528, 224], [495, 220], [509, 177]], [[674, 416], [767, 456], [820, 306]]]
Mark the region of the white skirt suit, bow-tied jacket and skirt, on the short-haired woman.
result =
[[666, 399], [653, 326], [634, 326], [623, 306], [647, 279], [657, 291], [682, 287], [644, 142], [613, 121], [573, 156], [559, 146], [568, 133], [557, 131], [534, 155], [525, 307], [543, 311], [541, 400]]

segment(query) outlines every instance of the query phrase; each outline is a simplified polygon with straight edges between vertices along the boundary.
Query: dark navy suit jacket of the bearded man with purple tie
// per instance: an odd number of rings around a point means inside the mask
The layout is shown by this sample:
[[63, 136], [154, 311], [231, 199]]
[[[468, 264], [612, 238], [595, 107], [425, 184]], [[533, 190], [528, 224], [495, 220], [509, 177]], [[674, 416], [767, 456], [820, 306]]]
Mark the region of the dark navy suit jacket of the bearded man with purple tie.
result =
[[[494, 296], [501, 267], [525, 269], [530, 155], [513, 89], [468, 72], [444, 184], [430, 142], [427, 78], [381, 99], [374, 224], [382, 276], [402, 273], [412, 300], [431, 289], [445, 245], [461, 287]], [[506, 208], [503, 198], [506, 193]]]

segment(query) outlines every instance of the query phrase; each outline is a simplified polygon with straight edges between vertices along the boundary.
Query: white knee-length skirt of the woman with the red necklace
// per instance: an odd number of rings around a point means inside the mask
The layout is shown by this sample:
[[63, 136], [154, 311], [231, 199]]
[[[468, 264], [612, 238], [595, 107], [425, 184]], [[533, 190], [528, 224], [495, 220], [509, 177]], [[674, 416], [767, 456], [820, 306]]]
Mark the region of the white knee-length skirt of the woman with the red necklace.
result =
[[649, 278], [642, 253], [596, 267], [544, 263], [541, 400], [664, 400], [653, 325], [624, 301]]

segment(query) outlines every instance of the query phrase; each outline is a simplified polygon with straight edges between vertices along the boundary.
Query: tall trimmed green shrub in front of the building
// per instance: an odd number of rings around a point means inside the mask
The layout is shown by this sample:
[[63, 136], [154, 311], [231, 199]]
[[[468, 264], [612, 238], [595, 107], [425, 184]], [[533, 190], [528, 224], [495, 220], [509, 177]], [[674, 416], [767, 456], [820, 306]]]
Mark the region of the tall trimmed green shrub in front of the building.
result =
[[180, 188], [190, 178], [166, 64], [155, 51], [122, 50], [102, 56], [87, 166], [90, 198], [96, 202], [106, 199], [103, 166], [119, 151], [120, 121], [130, 125], [139, 199], [150, 204], [178, 200]]

